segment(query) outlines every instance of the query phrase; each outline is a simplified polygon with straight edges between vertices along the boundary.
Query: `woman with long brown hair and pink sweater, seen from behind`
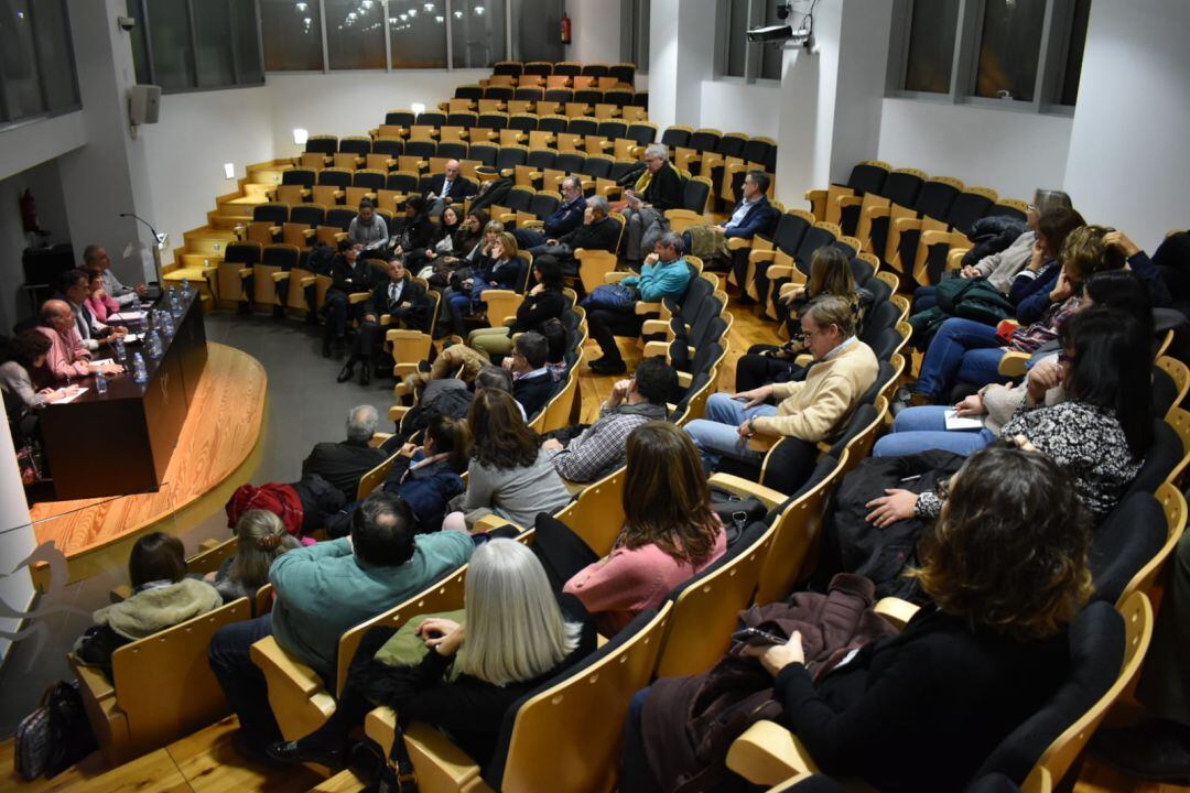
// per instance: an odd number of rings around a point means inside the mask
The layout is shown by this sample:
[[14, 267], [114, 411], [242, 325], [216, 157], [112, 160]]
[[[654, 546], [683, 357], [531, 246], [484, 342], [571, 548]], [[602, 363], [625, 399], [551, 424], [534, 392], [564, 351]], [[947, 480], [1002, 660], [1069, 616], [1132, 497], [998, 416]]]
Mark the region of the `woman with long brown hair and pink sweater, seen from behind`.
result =
[[632, 430], [624, 477], [625, 525], [600, 559], [556, 520], [539, 518], [533, 552], [555, 586], [582, 600], [605, 636], [656, 609], [727, 550], [707, 477], [682, 430], [650, 421]]

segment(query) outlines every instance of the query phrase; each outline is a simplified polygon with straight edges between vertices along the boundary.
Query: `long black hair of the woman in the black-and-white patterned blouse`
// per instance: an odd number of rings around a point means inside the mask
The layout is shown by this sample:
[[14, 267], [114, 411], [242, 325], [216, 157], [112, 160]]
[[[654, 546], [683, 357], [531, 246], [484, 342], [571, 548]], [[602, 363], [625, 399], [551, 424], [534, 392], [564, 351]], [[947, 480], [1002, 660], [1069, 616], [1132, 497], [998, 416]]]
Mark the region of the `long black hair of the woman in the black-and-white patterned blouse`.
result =
[[1153, 434], [1152, 338], [1132, 316], [1098, 307], [1073, 314], [1059, 332], [1063, 347], [1073, 351], [1069, 397], [1114, 410], [1135, 459]]

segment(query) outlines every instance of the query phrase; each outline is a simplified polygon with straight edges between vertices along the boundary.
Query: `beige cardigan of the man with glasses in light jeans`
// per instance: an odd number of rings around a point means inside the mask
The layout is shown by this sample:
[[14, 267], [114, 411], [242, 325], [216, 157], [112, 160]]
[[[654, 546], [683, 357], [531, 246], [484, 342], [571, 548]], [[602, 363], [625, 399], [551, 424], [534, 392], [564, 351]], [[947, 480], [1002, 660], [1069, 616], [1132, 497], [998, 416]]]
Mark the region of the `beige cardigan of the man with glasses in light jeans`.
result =
[[802, 383], [774, 383], [781, 399], [777, 415], [758, 416], [752, 427], [766, 435], [791, 435], [818, 442], [833, 438], [876, 382], [879, 363], [871, 347], [856, 339], [810, 365]]

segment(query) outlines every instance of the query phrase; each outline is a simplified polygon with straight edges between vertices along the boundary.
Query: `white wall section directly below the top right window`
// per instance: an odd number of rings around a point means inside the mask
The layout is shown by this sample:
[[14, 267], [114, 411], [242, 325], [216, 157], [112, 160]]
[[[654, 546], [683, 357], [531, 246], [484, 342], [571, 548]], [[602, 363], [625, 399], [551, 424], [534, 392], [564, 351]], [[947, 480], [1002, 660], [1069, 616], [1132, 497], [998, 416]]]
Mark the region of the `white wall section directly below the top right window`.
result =
[[[1027, 201], [1036, 188], [1066, 184], [1072, 124], [1060, 115], [885, 99], [876, 158]], [[1082, 208], [1082, 196], [1071, 195]]]

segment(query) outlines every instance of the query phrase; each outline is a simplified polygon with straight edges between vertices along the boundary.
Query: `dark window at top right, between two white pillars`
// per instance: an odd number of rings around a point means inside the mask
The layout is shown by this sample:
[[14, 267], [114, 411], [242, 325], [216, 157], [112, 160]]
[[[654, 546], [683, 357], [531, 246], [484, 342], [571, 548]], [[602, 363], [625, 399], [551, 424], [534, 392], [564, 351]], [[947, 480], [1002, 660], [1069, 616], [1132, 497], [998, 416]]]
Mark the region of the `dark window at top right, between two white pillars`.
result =
[[[897, 0], [890, 93], [1034, 112], [1078, 97], [1090, 0]], [[1066, 111], [1069, 113], [1069, 111]]]

